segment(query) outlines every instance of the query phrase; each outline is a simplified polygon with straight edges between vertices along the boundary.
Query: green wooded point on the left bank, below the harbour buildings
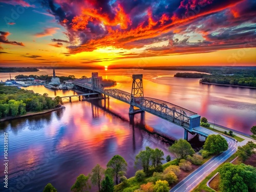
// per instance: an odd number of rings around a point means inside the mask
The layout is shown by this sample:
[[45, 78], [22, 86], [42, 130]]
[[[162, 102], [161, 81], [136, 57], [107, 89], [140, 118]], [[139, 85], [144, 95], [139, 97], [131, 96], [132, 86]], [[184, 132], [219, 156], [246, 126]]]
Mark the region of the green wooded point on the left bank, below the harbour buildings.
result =
[[53, 109], [62, 104], [60, 97], [52, 99], [47, 93], [40, 95], [30, 90], [0, 85], [0, 119]]

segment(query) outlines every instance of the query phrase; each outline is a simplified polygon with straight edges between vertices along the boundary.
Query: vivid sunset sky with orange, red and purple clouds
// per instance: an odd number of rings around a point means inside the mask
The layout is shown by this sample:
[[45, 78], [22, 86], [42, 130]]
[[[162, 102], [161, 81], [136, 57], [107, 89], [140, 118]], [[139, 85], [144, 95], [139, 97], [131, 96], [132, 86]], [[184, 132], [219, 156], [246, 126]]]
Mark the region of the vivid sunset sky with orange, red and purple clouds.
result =
[[0, 66], [256, 66], [256, 0], [0, 0]]

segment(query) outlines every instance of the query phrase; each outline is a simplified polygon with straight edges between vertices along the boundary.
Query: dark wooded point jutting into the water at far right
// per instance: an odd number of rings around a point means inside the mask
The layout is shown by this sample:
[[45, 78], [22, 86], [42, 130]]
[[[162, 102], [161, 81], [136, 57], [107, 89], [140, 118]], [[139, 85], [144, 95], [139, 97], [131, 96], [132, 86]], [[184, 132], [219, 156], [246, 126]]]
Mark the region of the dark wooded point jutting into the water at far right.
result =
[[201, 79], [200, 82], [256, 87], [256, 76], [246, 77], [244, 75], [211, 75]]

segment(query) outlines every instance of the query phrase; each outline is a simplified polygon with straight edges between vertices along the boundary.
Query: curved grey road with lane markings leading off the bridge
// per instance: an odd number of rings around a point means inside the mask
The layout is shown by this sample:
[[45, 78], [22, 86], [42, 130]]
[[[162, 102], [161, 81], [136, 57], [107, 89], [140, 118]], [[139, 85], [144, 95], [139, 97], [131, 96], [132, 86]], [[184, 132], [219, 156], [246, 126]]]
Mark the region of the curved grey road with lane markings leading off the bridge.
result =
[[[216, 134], [216, 133], [214, 133]], [[220, 164], [226, 161], [232, 154], [237, 151], [236, 141], [223, 136], [228, 142], [228, 150], [211, 158], [206, 163], [201, 165], [194, 172], [189, 174], [185, 179], [169, 190], [169, 192], [183, 192], [193, 190], [205, 177], [214, 171]]]

